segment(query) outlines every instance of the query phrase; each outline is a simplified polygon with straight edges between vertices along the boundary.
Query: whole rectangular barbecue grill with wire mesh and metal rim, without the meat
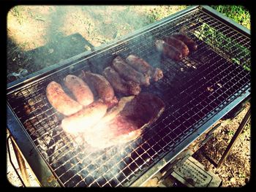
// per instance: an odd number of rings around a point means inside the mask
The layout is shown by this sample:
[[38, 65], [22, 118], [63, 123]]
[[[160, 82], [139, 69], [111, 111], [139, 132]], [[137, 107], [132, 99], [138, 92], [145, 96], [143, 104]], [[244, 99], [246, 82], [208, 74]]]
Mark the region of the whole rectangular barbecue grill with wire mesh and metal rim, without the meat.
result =
[[[156, 39], [186, 32], [198, 49], [174, 62]], [[138, 186], [174, 161], [197, 137], [250, 95], [250, 34], [207, 6], [193, 6], [108, 45], [95, 47], [7, 85], [7, 128], [42, 186]], [[46, 86], [67, 74], [102, 73], [116, 55], [135, 53], [164, 72], [143, 92], [165, 111], [138, 139], [94, 150], [59, 126], [64, 118], [46, 98]]]

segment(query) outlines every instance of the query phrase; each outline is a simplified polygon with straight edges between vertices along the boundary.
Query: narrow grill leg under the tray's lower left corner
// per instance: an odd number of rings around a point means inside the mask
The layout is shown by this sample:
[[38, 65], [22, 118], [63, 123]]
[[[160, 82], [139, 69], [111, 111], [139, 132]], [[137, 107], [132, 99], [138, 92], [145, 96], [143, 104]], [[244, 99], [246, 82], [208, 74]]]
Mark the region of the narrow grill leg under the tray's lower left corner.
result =
[[20, 168], [20, 173], [21, 173], [21, 176], [23, 178], [23, 182], [26, 186], [30, 186], [29, 174], [26, 171], [25, 161], [24, 161], [22, 155], [20, 154], [20, 151], [18, 150], [18, 147], [15, 145], [15, 142], [13, 142], [12, 139], [11, 139], [11, 142], [12, 142], [13, 150], [15, 152], [15, 156], [16, 156], [17, 161], [18, 161], [18, 166]]

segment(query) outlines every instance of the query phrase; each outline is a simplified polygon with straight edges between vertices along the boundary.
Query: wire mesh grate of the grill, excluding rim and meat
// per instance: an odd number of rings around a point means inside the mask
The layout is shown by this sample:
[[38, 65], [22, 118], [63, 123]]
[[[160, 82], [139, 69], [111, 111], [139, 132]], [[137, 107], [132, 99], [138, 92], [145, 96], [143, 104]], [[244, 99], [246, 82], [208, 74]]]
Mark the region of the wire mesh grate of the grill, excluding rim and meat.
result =
[[[198, 45], [178, 63], [154, 48], [156, 39], [176, 31], [187, 32]], [[72, 71], [24, 85], [7, 94], [7, 101], [64, 186], [126, 186], [249, 88], [250, 46], [248, 37], [196, 9], [86, 58]], [[63, 85], [67, 74], [81, 69], [101, 73], [115, 55], [129, 53], [163, 70], [165, 77], [143, 92], [165, 101], [165, 112], [135, 141], [105, 150], [79, 145], [79, 136], [70, 137], [59, 126], [64, 117], [49, 104], [46, 86], [52, 80]]]

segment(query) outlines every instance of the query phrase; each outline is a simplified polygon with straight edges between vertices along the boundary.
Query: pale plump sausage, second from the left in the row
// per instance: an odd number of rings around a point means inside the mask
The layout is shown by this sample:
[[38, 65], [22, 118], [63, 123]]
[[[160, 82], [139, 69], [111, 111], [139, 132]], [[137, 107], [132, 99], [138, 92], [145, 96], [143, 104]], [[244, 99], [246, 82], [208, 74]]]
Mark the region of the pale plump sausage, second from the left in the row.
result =
[[91, 89], [80, 77], [68, 74], [64, 78], [64, 84], [73, 93], [75, 99], [83, 106], [87, 106], [94, 101], [94, 95]]

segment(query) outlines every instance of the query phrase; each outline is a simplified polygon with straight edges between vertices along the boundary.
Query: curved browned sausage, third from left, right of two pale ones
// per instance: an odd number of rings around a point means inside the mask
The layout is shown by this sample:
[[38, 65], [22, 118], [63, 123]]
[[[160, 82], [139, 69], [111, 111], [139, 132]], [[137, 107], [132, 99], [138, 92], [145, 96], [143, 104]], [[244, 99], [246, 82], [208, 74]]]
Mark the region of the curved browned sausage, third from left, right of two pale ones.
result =
[[110, 82], [102, 75], [82, 71], [80, 77], [95, 89], [99, 99], [102, 99], [109, 107], [118, 102]]

